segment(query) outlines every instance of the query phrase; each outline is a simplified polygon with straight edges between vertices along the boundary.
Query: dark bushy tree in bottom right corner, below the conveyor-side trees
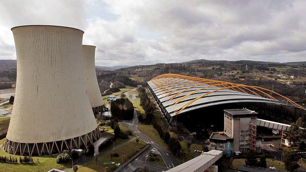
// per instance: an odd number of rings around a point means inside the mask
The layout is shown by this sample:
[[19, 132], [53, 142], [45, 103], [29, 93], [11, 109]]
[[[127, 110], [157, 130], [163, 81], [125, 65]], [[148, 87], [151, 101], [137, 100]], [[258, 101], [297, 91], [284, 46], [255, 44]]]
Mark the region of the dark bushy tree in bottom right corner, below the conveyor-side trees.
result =
[[297, 164], [298, 160], [297, 153], [292, 148], [284, 150], [283, 155], [284, 155], [284, 163], [286, 170], [294, 171], [295, 169], [300, 167]]

